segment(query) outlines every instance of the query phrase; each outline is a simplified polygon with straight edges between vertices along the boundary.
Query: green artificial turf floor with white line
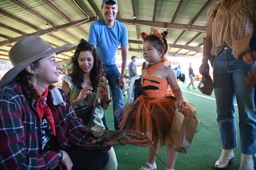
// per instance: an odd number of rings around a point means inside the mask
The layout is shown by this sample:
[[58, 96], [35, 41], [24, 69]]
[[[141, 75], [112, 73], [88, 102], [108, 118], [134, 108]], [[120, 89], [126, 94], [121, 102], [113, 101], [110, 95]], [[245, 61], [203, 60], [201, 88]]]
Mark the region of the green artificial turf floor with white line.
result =
[[[199, 82], [195, 82], [197, 87]], [[179, 83], [183, 90], [183, 96], [188, 99], [197, 111], [197, 118], [200, 123], [197, 127], [197, 133], [194, 136], [192, 144], [187, 154], [178, 153], [174, 166], [175, 170], [217, 170], [214, 163], [218, 160], [221, 153], [221, 141], [219, 128], [216, 121], [216, 102], [214, 92], [211, 96], [202, 94], [197, 88], [187, 89], [189, 82]], [[190, 86], [192, 88], [192, 85]], [[199, 94], [199, 95], [196, 95]], [[210, 97], [204, 98], [203, 96]], [[128, 101], [127, 94], [124, 97], [125, 103]], [[235, 106], [236, 127], [238, 148], [234, 149], [235, 161], [229, 164], [227, 170], [238, 170], [240, 166], [240, 138], [238, 128], [238, 112]], [[112, 103], [108, 110], [105, 111], [106, 123], [110, 130], [114, 130]], [[118, 160], [118, 170], [139, 170], [141, 166], [148, 161], [148, 147], [140, 147], [137, 145], [114, 146], [116, 157]], [[166, 147], [158, 151], [159, 157], [166, 163]], [[254, 167], [256, 167], [256, 158], [253, 157]], [[156, 159], [157, 169], [164, 170], [166, 165]]]

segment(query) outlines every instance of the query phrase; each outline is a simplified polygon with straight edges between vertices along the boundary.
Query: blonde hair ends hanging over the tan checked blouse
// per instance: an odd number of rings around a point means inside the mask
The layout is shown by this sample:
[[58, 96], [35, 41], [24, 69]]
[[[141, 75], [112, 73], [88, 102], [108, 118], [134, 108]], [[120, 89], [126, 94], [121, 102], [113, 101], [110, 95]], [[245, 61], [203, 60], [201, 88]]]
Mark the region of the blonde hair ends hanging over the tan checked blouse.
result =
[[[236, 1], [236, 0], [233, 0]], [[254, 7], [256, 7], [256, 2], [255, 0], [237, 0], [240, 1], [239, 6], [241, 8], [244, 8], [248, 11], [251, 11]], [[221, 6], [227, 10], [229, 8], [229, 0], [220, 0]]]

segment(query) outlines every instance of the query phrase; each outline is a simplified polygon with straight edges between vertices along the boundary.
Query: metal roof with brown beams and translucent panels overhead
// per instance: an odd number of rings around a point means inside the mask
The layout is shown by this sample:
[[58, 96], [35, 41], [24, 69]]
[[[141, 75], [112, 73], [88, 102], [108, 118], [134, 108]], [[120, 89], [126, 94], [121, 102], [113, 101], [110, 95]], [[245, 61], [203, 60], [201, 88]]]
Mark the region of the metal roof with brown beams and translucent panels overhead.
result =
[[[53, 47], [88, 39], [90, 24], [103, 17], [102, 0], [0, 0], [0, 60], [19, 39], [38, 35]], [[202, 55], [207, 10], [217, 0], [118, 0], [117, 20], [128, 29], [129, 51], [142, 52], [141, 32], [168, 31], [169, 56]], [[57, 56], [70, 61], [74, 49]], [[175, 55], [173, 55], [175, 54]], [[142, 56], [138, 56], [141, 58]]]

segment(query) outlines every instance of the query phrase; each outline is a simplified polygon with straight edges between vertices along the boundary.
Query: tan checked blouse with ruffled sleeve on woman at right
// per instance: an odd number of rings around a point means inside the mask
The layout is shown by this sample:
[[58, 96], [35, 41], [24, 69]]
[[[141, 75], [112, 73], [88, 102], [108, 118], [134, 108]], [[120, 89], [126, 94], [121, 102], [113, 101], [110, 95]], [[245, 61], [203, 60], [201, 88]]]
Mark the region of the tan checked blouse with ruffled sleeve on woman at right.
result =
[[233, 48], [236, 40], [251, 35], [256, 30], [256, 7], [252, 11], [239, 6], [239, 1], [231, 3], [225, 11], [219, 2], [213, 4], [207, 13], [213, 21], [211, 55], [218, 55], [223, 47]]

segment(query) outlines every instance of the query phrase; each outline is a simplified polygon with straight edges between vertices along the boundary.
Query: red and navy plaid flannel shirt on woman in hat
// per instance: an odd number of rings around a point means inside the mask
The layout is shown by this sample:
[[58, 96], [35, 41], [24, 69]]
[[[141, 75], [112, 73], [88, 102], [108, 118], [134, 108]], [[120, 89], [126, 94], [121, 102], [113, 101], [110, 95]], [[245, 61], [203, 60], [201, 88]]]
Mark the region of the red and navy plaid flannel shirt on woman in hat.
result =
[[54, 169], [58, 163], [55, 149], [79, 146], [83, 149], [110, 149], [107, 140], [97, 144], [91, 141], [95, 137], [85, 129], [70, 106], [70, 100], [59, 89], [65, 106], [54, 105], [51, 90], [47, 96], [55, 121], [56, 136], [41, 150], [41, 120], [31, 101], [21, 90], [21, 85], [13, 82], [0, 90], [0, 169], [46, 170]]

